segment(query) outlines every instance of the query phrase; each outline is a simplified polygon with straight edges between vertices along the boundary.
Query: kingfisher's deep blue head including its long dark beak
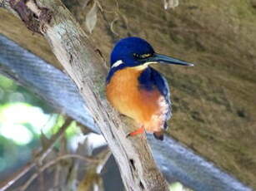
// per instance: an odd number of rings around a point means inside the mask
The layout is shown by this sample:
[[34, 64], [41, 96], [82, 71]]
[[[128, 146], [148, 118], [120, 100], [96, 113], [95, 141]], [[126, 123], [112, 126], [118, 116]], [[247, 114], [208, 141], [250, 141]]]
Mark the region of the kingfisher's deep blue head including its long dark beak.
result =
[[186, 61], [181, 61], [170, 56], [156, 53], [153, 47], [139, 37], [127, 37], [121, 39], [111, 53], [111, 69], [107, 81], [115, 71], [124, 67], [148, 66], [150, 63], [167, 63], [183, 66], [193, 66]]

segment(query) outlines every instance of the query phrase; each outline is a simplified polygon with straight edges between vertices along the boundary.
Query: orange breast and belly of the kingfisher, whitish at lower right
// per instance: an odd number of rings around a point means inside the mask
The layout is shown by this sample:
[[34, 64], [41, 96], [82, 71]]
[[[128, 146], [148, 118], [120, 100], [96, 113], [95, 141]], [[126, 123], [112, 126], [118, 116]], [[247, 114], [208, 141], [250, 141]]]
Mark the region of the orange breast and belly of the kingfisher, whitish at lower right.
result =
[[133, 118], [148, 132], [159, 132], [163, 130], [168, 105], [157, 88], [153, 91], [139, 88], [141, 72], [136, 68], [116, 71], [107, 85], [107, 98], [120, 113]]

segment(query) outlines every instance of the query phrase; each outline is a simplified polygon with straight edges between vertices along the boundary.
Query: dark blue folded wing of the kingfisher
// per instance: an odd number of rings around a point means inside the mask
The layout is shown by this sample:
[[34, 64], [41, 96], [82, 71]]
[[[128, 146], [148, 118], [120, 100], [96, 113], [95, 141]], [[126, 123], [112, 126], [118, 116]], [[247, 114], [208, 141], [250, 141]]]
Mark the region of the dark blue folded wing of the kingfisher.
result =
[[[138, 81], [140, 83], [140, 87], [148, 91], [152, 91], [155, 87], [158, 88], [158, 91], [160, 91], [160, 93], [164, 96], [167, 104], [169, 105], [168, 112], [166, 113], [166, 120], [170, 119], [172, 116], [172, 103], [170, 100], [170, 90], [166, 79], [158, 71], [148, 66], [148, 68], [142, 72], [141, 76], [139, 76]], [[164, 126], [165, 128], [167, 127], [166, 124]]]

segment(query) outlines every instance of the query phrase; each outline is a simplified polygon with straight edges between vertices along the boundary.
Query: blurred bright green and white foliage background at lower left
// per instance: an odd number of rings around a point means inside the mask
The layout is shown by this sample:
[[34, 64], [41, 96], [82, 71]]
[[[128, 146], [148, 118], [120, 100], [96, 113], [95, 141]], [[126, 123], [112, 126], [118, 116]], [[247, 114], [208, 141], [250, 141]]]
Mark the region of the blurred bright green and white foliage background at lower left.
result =
[[[33, 149], [40, 145], [40, 136], [50, 137], [63, 122], [63, 116], [54, 113], [43, 100], [0, 76], [0, 174], [31, 159]], [[66, 131], [68, 140], [79, 132], [73, 122]]]

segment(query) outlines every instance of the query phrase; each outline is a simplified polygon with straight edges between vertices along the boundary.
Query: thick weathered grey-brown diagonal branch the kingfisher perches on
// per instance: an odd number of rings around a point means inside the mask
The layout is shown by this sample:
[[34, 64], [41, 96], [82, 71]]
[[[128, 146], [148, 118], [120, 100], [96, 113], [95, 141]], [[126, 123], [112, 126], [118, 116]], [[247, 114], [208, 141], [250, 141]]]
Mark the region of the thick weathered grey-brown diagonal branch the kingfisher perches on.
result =
[[[33, 32], [41, 33], [58, 61], [78, 86], [88, 109], [108, 142], [126, 190], [164, 191], [168, 184], [153, 161], [145, 135], [126, 138], [131, 130], [105, 100], [107, 70], [97, 47], [60, 0], [0, 0]], [[22, 37], [22, 33], [21, 33]]]

